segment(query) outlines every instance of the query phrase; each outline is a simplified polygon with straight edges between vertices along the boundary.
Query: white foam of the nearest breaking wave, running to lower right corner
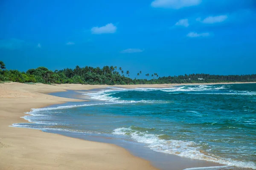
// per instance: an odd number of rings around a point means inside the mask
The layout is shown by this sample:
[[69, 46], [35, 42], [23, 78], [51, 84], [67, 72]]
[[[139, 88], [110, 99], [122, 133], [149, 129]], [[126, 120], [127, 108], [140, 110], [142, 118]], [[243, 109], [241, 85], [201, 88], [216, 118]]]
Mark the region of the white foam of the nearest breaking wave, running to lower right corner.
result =
[[120, 127], [113, 130], [112, 134], [129, 135], [137, 142], [148, 144], [148, 147], [157, 152], [175, 154], [191, 159], [201, 159], [206, 161], [213, 161], [229, 166], [244, 167], [256, 169], [254, 162], [236, 161], [232, 159], [219, 158], [204, 152], [200, 145], [193, 141], [181, 140], [164, 140], [160, 139], [161, 135], [150, 134], [148, 132], [140, 132], [132, 130], [131, 127]]

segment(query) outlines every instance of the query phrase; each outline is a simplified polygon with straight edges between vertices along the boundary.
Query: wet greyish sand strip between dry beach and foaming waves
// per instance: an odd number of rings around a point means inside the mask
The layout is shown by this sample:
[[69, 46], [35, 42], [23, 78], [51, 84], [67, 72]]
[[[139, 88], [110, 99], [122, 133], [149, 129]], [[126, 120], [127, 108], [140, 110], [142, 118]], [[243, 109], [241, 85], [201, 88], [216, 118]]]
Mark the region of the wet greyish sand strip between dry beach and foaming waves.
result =
[[[109, 90], [111, 88], [105, 88], [106, 90]], [[86, 91], [89, 93], [96, 92], [101, 89], [92, 89], [90, 91]], [[104, 91], [104, 90], [103, 90]], [[67, 94], [68, 93], [68, 94]], [[54, 96], [76, 96], [77, 99], [79, 99], [79, 96], [83, 97], [84, 95], [81, 95], [81, 91], [68, 91], [68, 92], [56, 92], [53, 93], [52, 95]], [[74, 95], [76, 94], [76, 95]], [[88, 99], [90, 104], [93, 104], [93, 102], [97, 102], [95, 100]], [[76, 105], [78, 104], [78, 105]], [[66, 106], [76, 106], [79, 107], [81, 103], [64, 103], [63, 105], [51, 105], [50, 108], [56, 108], [56, 107], [66, 107]], [[84, 102], [82, 102], [84, 104]], [[39, 113], [40, 114], [40, 113]], [[19, 126], [18, 126], [19, 127]], [[132, 153], [134, 156], [138, 156], [142, 159], [148, 160], [151, 162], [151, 164], [160, 170], [170, 170], [169, 167], [172, 167], [171, 170], [183, 170], [183, 169], [188, 169], [188, 168], [196, 168], [196, 167], [221, 167], [224, 164], [216, 163], [214, 161], [206, 161], [206, 160], [201, 160], [201, 159], [190, 159], [187, 157], [181, 157], [177, 156], [175, 154], [169, 154], [169, 153], [163, 153], [159, 151], [152, 150], [151, 148], [148, 147], [148, 144], [145, 143], [140, 143], [137, 141], [134, 141], [132, 139], [121, 139], [120, 136], [115, 136], [112, 134], [108, 133], [79, 133], [79, 132], [70, 132], [70, 131], [58, 131], [58, 130], [44, 130], [44, 132], [47, 133], [57, 133], [61, 134], [64, 136], [70, 136], [78, 139], [84, 139], [84, 140], [89, 140], [89, 141], [95, 141], [95, 142], [103, 142], [103, 143], [110, 143], [110, 144], [115, 144], [117, 146], [123, 147], [126, 150], [128, 150], [130, 153]]]

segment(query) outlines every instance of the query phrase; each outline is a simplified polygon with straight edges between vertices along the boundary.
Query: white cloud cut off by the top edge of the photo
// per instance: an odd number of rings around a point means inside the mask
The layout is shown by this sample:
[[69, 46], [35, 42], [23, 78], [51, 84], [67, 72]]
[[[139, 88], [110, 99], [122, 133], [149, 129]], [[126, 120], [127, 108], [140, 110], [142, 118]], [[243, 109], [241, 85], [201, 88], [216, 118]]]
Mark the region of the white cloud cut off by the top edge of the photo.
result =
[[154, 0], [151, 6], [154, 8], [180, 9], [183, 7], [197, 6], [202, 0]]

